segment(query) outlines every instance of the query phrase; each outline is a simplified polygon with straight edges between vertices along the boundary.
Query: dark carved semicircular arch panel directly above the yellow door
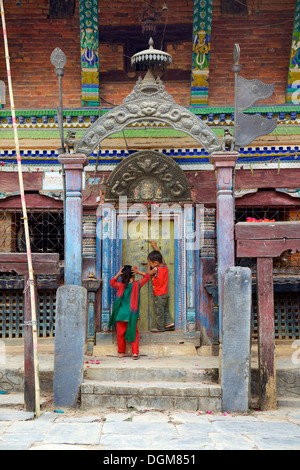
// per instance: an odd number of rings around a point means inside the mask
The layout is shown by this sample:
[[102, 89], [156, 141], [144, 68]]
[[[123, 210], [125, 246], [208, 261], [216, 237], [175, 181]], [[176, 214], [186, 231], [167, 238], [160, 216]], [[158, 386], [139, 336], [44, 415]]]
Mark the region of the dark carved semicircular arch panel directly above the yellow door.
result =
[[142, 150], [125, 158], [107, 181], [107, 202], [126, 196], [130, 202], [176, 202], [191, 200], [189, 183], [170, 157]]

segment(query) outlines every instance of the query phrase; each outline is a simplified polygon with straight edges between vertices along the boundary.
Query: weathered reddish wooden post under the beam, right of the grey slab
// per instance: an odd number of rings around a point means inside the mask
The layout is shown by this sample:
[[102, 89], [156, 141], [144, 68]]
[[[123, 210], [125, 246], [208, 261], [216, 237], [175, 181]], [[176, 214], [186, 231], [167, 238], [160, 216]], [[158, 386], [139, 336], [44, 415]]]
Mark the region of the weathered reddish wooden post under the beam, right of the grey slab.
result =
[[256, 276], [260, 409], [265, 411], [277, 408], [273, 258], [257, 258]]

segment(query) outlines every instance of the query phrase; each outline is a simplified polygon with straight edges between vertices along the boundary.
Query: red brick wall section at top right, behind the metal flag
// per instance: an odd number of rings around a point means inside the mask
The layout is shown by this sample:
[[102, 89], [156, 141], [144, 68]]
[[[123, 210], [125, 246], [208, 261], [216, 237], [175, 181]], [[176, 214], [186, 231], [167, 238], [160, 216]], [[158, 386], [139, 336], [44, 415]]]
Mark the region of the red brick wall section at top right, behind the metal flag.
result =
[[[250, 3], [250, 2], [248, 2]], [[263, 103], [285, 102], [287, 72], [292, 41], [295, 0], [264, 0], [260, 14], [254, 10], [248, 16], [221, 15], [221, 1], [214, 0], [209, 104], [234, 102], [231, 72], [234, 43], [241, 48], [241, 75], [275, 83], [275, 91]]]

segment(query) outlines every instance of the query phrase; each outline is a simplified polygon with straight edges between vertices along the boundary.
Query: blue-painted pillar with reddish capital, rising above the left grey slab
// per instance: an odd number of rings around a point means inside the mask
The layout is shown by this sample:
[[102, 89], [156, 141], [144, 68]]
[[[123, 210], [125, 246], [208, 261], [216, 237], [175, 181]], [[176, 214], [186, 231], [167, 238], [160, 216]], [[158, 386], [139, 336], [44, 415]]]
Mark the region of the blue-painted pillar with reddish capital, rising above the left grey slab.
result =
[[62, 154], [66, 173], [65, 205], [65, 284], [82, 285], [82, 173], [88, 163], [85, 155]]

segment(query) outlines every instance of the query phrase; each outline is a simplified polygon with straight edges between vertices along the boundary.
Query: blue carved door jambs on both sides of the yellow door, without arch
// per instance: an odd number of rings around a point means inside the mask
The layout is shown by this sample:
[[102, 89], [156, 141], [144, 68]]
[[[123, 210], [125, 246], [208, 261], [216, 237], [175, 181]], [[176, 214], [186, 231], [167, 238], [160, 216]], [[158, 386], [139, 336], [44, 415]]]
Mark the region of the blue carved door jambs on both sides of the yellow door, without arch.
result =
[[[199, 251], [187, 250], [189, 234], [194, 232], [195, 210], [189, 211], [186, 218], [182, 208], [174, 207], [174, 285], [175, 285], [175, 325], [177, 330], [196, 330], [196, 259]], [[132, 217], [129, 214], [127, 220]], [[122, 264], [122, 238], [124, 214], [113, 204], [103, 204], [98, 212], [97, 244], [102, 251], [102, 315], [101, 330], [108, 330], [108, 321], [112, 312], [115, 292], [109, 281]]]

